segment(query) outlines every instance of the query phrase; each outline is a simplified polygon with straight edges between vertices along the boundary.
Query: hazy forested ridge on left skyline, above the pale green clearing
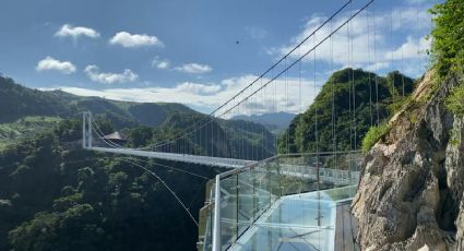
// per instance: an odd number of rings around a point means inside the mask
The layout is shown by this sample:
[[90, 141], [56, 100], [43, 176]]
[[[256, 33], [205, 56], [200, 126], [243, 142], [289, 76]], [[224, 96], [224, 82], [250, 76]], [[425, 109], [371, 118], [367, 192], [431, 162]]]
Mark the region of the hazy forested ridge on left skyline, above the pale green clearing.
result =
[[172, 112], [197, 112], [181, 104], [117, 101], [31, 89], [0, 76], [0, 122], [13, 122], [25, 116], [75, 118], [82, 111], [105, 115], [118, 128], [135, 123], [156, 127]]

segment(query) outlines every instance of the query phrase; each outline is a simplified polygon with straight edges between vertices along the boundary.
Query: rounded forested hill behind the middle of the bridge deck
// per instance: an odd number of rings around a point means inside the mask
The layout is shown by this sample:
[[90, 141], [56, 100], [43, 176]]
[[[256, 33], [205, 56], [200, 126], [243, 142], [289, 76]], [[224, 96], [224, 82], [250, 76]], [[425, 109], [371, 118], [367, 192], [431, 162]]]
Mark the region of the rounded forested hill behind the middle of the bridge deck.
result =
[[[210, 121], [211, 118], [204, 115], [172, 113], [159, 128], [154, 129], [153, 141], [158, 142], [167, 135], [175, 135], [200, 120]], [[211, 120], [205, 127], [199, 127], [195, 133], [185, 141], [187, 145], [183, 147], [194, 148], [195, 154], [200, 155], [254, 160], [275, 155], [274, 135], [264, 125], [245, 120]], [[171, 147], [172, 152], [176, 152], [174, 145]]]

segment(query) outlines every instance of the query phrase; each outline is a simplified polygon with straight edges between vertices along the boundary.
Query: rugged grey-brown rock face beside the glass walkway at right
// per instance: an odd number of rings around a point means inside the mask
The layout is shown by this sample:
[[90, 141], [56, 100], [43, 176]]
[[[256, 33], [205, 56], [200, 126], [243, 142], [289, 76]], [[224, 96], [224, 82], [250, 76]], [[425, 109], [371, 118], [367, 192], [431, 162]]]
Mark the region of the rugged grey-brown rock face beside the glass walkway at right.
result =
[[362, 250], [464, 250], [464, 119], [443, 105], [462, 80], [430, 94], [430, 76], [365, 158], [352, 204]]

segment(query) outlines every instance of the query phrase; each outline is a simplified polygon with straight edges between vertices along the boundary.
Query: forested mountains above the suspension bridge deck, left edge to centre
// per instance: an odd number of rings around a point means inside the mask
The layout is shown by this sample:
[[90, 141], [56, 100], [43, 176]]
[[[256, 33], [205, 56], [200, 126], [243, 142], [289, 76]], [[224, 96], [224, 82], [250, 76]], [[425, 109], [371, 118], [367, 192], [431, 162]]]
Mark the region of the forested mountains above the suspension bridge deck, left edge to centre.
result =
[[[50, 130], [62, 119], [81, 118], [82, 111], [91, 111], [96, 121], [104, 124], [100, 125], [104, 127], [105, 133], [127, 133], [131, 146], [143, 146], [169, 139], [191, 124], [210, 119], [206, 115], [181, 104], [118, 101], [81, 97], [62, 91], [41, 92], [21, 86], [4, 77], [0, 77], [0, 86], [1, 97], [9, 97], [8, 101], [13, 104], [2, 107], [0, 147]], [[215, 134], [210, 135], [207, 130], [214, 130]], [[215, 140], [194, 142], [200, 136], [214, 136]], [[198, 154], [262, 159], [275, 153], [274, 142], [274, 136], [259, 123], [214, 120], [209, 127], [191, 135], [187, 140], [187, 146], [195, 148]]]

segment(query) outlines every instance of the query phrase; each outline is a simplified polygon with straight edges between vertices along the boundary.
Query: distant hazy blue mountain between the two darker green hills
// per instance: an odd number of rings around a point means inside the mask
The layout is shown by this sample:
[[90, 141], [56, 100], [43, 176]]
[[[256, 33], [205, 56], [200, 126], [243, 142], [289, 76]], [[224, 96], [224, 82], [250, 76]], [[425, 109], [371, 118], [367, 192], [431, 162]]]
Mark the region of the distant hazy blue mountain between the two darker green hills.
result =
[[295, 118], [294, 113], [279, 111], [279, 112], [270, 112], [270, 113], [251, 115], [251, 116], [240, 115], [240, 116], [234, 117], [233, 119], [261, 123], [273, 133], [279, 133], [286, 128], [288, 128], [288, 125], [290, 124], [294, 118]]

